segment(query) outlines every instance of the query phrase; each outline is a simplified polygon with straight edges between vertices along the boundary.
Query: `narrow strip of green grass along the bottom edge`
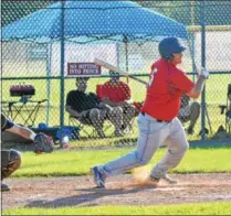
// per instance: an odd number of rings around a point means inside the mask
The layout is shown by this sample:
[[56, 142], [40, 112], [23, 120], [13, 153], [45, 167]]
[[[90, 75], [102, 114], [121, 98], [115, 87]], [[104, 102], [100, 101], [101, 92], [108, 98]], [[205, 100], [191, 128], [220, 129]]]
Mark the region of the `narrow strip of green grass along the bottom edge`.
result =
[[158, 205], [158, 206], [97, 206], [60, 208], [14, 208], [2, 215], [230, 215], [231, 202]]

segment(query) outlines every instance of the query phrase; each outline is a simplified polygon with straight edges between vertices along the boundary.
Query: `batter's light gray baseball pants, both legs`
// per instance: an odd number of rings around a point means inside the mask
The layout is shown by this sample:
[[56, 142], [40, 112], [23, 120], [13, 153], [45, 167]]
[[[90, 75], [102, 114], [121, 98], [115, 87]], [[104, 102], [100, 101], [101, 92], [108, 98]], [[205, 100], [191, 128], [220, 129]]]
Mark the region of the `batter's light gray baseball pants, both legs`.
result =
[[176, 168], [180, 163], [189, 148], [185, 130], [178, 118], [170, 122], [158, 122], [149, 115], [139, 114], [138, 129], [136, 150], [104, 165], [98, 165], [103, 174], [116, 175], [145, 165], [151, 160], [157, 149], [161, 144], [166, 144], [168, 151], [150, 173], [151, 176], [160, 179], [169, 169]]

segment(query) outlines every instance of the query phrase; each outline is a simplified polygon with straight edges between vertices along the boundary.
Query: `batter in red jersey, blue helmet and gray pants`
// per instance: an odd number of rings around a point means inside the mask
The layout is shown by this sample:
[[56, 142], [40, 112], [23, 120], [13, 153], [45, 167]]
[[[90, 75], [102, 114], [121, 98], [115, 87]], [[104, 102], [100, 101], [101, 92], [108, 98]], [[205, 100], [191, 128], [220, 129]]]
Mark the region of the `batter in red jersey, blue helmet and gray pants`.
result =
[[186, 94], [198, 98], [209, 72], [199, 71], [198, 79], [193, 84], [177, 68], [186, 50], [177, 37], [165, 37], [158, 48], [160, 58], [151, 66], [146, 99], [138, 116], [137, 148], [119, 159], [92, 168], [97, 187], [105, 187], [107, 176], [146, 165], [160, 144], [166, 144], [168, 150], [165, 156], [153, 168], [148, 177], [149, 182], [157, 184], [161, 179], [166, 179], [169, 169], [180, 163], [189, 149], [183, 127], [177, 118], [180, 97]]

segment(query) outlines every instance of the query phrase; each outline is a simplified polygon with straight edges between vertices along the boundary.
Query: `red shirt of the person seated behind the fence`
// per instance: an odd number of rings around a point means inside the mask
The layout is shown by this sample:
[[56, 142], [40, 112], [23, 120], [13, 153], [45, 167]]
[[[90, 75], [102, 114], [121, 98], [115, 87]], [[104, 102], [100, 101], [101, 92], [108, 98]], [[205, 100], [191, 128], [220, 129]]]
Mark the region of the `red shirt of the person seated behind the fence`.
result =
[[130, 99], [129, 86], [120, 80], [117, 85], [113, 85], [111, 82], [98, 85], [96, 93], [99, 98], [107, 97], [114, 102], [123, 102]]

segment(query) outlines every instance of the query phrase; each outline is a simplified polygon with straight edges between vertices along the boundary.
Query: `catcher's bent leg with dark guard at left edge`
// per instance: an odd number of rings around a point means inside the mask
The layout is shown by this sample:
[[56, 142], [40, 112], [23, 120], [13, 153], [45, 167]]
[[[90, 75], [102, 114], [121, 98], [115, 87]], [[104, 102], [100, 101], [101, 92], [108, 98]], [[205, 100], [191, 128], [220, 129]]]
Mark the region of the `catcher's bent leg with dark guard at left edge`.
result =
[[[15, 150], [1, 151], [1, 181], [10, 176], [21, 164], [20, 153]], [[7, 184], [1, 182], [1, 191], [10, 191]]]

